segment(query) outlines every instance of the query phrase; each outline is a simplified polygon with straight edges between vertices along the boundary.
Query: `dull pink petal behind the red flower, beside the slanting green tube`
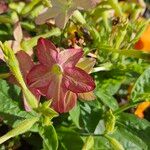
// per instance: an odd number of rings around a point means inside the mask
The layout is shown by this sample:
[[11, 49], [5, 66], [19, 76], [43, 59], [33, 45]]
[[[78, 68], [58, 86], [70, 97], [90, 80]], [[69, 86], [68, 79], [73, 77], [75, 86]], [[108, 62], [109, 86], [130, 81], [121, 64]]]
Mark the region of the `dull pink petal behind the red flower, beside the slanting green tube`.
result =
[[18, 59], [20, 70], [22, 72], [22, 75], [26, 81], [26, 76], [31, 70], [31, 68], [34, 66], [34, 63], [31, 59], [31, 57], [25, 53], [24, 51], [19, 51], [16, 53], [16, 57]]

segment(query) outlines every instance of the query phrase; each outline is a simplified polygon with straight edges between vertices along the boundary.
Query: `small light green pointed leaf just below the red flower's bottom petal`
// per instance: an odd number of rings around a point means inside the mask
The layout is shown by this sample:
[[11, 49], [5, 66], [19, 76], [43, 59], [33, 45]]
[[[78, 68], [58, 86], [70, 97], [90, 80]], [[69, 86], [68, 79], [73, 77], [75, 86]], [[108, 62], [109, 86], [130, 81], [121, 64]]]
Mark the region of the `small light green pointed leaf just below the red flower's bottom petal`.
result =
[[81, 128], [80, 127], [80, 105], [77, 104], [76, 107], [74, 107], [70, 112], [70, 117], [72, 119], [72, 121], [75, 123], [75, 125], [78, 127], [78, 128]]

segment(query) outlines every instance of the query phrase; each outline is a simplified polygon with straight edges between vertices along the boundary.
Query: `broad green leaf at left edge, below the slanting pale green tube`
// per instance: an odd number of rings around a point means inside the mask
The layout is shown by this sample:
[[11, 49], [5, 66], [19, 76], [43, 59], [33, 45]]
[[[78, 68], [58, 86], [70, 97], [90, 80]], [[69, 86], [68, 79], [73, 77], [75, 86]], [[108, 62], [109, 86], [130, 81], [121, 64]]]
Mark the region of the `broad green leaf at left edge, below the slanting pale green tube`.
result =
[[0, 80], [0, 116], [5, 123], [13, 125], [17, 119], [31, 118], [33, 115], [20, 107], [20, 88], [10, 86], [5, 80]]

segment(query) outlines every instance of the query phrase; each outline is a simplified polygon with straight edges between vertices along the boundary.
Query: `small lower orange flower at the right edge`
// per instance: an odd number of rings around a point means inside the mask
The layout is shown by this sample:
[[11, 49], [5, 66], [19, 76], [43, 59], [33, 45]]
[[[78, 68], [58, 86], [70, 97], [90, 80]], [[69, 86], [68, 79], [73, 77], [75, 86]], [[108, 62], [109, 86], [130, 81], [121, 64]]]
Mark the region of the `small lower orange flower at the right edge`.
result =
[[144, 111], [148, 107], [150, 107], [150, 102], [143, 102], [143, 103], [138, 105], [138, 107], [136, 108], [136, 111], [134, 112], [134, 114], [136, 116], [138, 116], [139, 118], [144, 118]]

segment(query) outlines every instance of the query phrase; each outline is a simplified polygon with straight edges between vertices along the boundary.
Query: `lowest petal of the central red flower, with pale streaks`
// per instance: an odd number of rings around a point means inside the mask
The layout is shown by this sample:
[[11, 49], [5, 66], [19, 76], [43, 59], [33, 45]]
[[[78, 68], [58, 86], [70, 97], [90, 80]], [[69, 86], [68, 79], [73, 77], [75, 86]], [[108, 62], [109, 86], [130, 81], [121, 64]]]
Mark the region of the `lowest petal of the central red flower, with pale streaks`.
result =
[[75, 106], [77, 100], [77, 95], [75, 93], [63, 87], [61, 75], [53, 76], [46, 97], [52, 99], [52, 106], [59, 113], [71, 110]]

